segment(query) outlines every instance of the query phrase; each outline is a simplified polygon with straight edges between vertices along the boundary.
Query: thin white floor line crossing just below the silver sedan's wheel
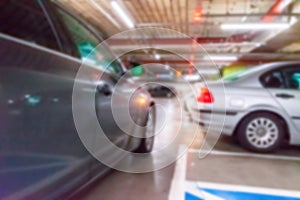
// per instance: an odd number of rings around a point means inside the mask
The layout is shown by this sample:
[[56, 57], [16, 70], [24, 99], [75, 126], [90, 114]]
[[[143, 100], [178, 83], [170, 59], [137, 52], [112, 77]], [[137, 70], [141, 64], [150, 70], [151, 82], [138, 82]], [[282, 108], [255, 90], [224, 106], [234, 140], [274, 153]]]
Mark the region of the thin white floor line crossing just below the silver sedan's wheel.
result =
[[287, 160], [287, 161], [300, 161], [300, 157], [296, 156], [283, 156], [283, 155], [267, 155], [258, 153], [238, 153], [229, 151], [218, 151], [218, 150], [199, 150], [199, 149], [189, 149], [189, 153], [208, 153], [208, 155], [218, 155], [218, 156], [233, 156], [233, 157], [247, 157], [247, 158], [264, 158], [270, 160]]

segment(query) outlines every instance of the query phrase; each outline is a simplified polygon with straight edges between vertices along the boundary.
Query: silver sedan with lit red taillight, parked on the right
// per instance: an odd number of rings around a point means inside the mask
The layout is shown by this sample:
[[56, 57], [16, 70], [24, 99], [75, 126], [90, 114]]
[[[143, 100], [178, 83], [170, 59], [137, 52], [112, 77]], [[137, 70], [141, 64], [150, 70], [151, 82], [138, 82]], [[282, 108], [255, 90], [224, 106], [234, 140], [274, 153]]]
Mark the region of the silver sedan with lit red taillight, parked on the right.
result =
[[219, 128], [256, 152], [300, 144], [300, 62], [263, 64], [198, 89], [192, 116], [206, 131]]

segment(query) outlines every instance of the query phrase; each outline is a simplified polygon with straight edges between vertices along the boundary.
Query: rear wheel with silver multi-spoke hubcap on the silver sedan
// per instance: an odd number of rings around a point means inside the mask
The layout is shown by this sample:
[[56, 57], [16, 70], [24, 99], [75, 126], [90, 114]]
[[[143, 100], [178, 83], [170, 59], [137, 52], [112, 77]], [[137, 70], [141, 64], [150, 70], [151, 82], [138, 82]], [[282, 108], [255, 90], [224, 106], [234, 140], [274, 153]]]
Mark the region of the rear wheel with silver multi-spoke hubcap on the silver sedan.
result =
[[254, 113], [239, 125], [237, 139], [248, 150], [268, 153], [277, 150], [284, 138], [283, 124], [270, 113]]

